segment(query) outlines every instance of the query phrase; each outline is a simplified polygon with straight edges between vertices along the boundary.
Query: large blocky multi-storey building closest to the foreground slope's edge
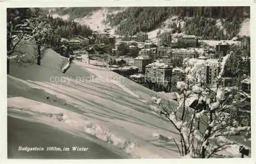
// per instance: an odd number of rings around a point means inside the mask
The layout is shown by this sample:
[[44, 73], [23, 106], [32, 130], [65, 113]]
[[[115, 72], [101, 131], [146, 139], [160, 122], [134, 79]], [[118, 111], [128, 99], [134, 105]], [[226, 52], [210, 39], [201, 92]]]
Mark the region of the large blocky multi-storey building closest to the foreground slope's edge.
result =
[[160, 59], [145, 67], [145, 80], [167, 86], [172, 80], [172, 73], [173, 67]]

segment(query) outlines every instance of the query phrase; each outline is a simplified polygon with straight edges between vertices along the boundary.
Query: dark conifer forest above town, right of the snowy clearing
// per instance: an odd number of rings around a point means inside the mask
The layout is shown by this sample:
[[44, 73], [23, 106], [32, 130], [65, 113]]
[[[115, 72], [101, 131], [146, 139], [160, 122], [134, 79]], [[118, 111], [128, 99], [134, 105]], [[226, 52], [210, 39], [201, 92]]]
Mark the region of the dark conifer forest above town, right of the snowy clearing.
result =
[[[183, 31], [186, 34], [200, 36], [203, 39], [206, 37], [230, 39], [238, 34], [242, 21], [250, 17], [250, 8], [130, 7], [123, 12], [108, 14], [104, 22], [111, 26], [119, 25], [116, 30], [117, 34], [134, 35], [139, 31], [154, 30], [172, 15], [177, 15], [178, 20], [185, 20]], [[226, 32], [216, 25], [217, 19], [220, 19]]]

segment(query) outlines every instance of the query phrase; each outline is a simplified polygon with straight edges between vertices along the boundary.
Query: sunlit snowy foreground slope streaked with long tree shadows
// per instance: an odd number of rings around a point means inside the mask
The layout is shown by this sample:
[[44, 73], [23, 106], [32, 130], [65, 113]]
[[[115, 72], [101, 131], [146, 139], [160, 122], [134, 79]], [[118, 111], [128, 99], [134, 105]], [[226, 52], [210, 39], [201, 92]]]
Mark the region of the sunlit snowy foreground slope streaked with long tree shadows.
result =
[[[75, 134], [85, 138], [85, 142], [100, 145], [111, 152], [113, 158], [179, 158], [174, 143], [153, 135], [156, 132], [168, 137], [177, 135], [175, 128], [151, 108], [151, 96], [156, 96], [156, 92], [105, 68], [79, 61], [62, 74], [58, 67], [60, 60], [58, 54], [48, 50], [41, 66], [11, 64], [9, 118], [26, 120], [31, 125], [41, 123], [67, 135]], [[28, 136], [19, 142], [29, 144], [29, 137], [33, 138]], [[54, 132], [51, 137], [55, 137]], [[42, 144], [51, 144], [49, 140], [46, 136]], [[8, 148], [13, 148], [13, 142], [15, 140], [8, 141]], [[94, 156], [97, 158], [100, 154]]]

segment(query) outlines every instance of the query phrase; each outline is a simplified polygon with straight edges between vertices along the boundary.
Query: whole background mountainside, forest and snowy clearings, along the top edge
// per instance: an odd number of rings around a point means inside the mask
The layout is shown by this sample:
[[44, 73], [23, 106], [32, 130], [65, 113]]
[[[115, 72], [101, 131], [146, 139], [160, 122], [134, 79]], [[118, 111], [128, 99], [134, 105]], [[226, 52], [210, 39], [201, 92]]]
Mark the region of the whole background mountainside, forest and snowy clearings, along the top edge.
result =
[[[101, 12], [103, 11], [104, 12]], [[120, 12], [113, 12], [120, 10]], [[139, 31], [151, 32], [158, 28], [168, 28], [176, 33], [180, 28], [179, 22], [184, 21], [182, 33], [197, 35], [202, 39], [231, 39], [237, 35], [247, 35], [250, 18], [249, 7], [79, 7], [79, 8], [48, 8], [49, 13], [66, 16], [70, 20], [101, 12], [101, 15], [93, 17], [90, 22], [80, 21], [80, 24], [94, 24], [97, 26], [109, 26], [115, 28], [113, 33], [118, 35], [134, 35]], [[97, 19], [100, 18], [101, 21]], [[177, 17], [176, 21], [168, 21], [169, 18]], [[178, 23], [177, 23], [178, 22]], [[99, 24], [99, 25], [96, 25]], [[131, 26], [133, 25], [133, 26]], [[243, 25], [243, 26], [242, 26]], [[90, 26], [90, 25], [89, 25]], [[91, 27], [92, 28], [92, 27]], [[97, 30], [97, 28], [92, 28]]]

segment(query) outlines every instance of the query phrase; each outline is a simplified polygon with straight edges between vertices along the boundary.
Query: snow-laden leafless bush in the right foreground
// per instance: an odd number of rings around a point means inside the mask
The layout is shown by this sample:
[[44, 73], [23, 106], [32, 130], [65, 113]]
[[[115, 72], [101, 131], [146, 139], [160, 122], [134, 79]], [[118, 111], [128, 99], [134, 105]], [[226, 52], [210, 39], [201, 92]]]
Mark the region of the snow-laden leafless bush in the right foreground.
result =
[[[227, 59], [228, 57], [224, 61]], [[225, 62], [221, 69], [224, 69]], [[160, 113], [180, 134], [175, 139], [175, 144], [181, 156], [218, 157], [221, 151], [238, 144], [232, 140], [232, 136], [240, 136], [241, 141], [250, 139], [250, 127], [235, 126], [230, 114], [225, 112], [230, 101], [225, 99], [221, 88], [220, 77], [223, 70], [220, 71], [214, 88], [206, 84], [205, 79], [200, 76], [202, 70], [199, 66], [186, 69], [185, 73], [185, 81], [177, 82], [178, 107], [170, 103], [162, 103], [160, 107]]]

